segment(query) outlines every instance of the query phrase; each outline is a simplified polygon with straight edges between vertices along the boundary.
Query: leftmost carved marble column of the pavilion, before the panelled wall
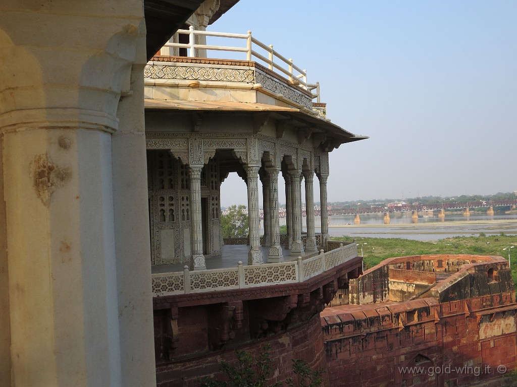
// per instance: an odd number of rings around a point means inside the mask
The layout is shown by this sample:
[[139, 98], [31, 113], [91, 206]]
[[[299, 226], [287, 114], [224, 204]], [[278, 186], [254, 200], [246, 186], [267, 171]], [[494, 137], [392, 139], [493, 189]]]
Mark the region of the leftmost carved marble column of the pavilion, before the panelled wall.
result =
[[192, 256], [190, 268], [192, 270], [206, 269], [203, 255], [203, 219], [201, 217], [201, 170], [203, 166], [189, 166], [190, 178], [190, 240]]

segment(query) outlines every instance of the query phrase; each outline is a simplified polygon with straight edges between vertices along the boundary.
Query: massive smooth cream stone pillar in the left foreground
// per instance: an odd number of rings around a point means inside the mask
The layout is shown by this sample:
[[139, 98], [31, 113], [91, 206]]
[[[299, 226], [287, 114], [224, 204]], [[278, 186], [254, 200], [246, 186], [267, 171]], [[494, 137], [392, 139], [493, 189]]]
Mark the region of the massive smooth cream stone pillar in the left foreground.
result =
[[142, 1], [49, 4], [0, 3], [0, 385], [156, 385]]

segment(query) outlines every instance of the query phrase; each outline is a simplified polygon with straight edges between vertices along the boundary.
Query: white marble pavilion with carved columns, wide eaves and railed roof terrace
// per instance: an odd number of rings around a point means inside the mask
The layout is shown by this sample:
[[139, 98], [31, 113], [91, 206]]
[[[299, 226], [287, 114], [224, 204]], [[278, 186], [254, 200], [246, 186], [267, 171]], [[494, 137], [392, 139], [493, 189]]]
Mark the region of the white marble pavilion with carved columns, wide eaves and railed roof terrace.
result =
[[[221, 255], [220, 186], [230, 172], [247, 184], [249, 265], [283, 261], [279, 199], [286, 202], [284, 248], [293, 256], [316, 252], [328, 237], [329, 152], [365, 137], [327, 120], [319, 85], [307, 83], [305, 70], [251, 33], [207, 32], [214, 8], [204, 4], [144, 70], [151, 262], [199, 270]], [[229, 51], [237, 51], [235, 41], [245, 41], [240, 51], [247, 59], [208, 58], [210, 49], [224, 48], [207, 44], [211, 36], [232, 39]], [[260, 49], [268, 51], [261, 55], [255, 51]], [[314, 212], [308, 211], [304, 246], [301, 190], [312, 208], [314, 175], [320, 182], [321, 237], [316, 243]], [[285, 198], [278, 197], [279, 184]], [[267, 255], [260, 248], [261, 205]]]

